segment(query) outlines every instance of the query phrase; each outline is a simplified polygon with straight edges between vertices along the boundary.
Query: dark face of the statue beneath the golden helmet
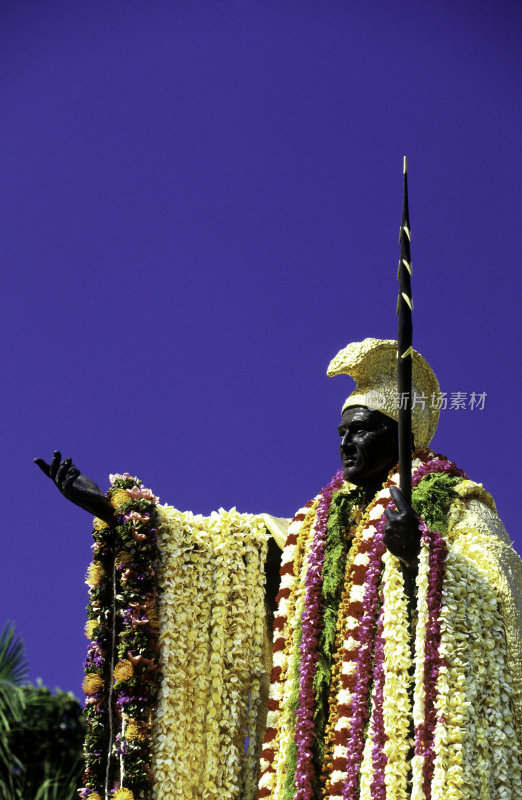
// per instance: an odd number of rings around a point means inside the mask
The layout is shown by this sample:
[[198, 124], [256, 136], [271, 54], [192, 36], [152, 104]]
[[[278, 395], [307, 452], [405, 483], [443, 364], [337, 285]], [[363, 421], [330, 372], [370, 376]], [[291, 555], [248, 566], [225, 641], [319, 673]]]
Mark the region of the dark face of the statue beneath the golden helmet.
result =
[[397, 423], [365, 406], [347, 408], [339, 425], [339, 450], [345, 480], [374, 487], [397, 463]]

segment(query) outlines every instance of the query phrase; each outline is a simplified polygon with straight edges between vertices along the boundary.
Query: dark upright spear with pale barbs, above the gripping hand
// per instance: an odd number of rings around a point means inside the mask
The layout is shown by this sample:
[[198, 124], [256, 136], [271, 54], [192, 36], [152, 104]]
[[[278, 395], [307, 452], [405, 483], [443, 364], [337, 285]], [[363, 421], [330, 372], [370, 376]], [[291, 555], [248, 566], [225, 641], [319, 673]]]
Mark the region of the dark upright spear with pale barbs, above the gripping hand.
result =
[[399, 392], [399, 482], [408, 505], [411, 505], [411, 369], [413, 349], [412, 321], [413, 300], [411, 297], [410, 217], [408, 213], [408, 171], [404, 156], [404, 188], [402, 197], [402, 222], [399, 233], [401, 256], [397, 278], [397, 386]]

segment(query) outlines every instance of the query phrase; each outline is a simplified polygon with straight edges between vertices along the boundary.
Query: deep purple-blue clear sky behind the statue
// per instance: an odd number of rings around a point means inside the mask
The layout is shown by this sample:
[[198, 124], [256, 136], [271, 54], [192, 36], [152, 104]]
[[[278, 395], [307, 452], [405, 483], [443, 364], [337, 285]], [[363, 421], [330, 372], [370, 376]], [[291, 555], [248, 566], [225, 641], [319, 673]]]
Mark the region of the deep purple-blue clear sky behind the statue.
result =
[[[516, 541], [518, 2], [4, 3], [2, 619], [81, 693], [90, 519], [33, 466], [292, 516], [337, 469], [350, 378], [394, 338], [408, 156], [433, 446]], [[519, 550], [522, 539], [518, 539]]]

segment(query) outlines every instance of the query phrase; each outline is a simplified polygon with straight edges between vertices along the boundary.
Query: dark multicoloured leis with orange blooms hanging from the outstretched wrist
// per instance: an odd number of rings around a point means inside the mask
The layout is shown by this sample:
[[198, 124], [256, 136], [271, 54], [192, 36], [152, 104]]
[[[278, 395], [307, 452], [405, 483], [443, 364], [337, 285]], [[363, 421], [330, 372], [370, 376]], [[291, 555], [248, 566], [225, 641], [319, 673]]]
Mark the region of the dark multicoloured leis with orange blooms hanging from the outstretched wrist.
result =
[[156, 502], [141, 481], [111, 475], [117, 524], [94, 523], [87, 570], [85, 800], [149, 800], [151, 723], [160, 683]]

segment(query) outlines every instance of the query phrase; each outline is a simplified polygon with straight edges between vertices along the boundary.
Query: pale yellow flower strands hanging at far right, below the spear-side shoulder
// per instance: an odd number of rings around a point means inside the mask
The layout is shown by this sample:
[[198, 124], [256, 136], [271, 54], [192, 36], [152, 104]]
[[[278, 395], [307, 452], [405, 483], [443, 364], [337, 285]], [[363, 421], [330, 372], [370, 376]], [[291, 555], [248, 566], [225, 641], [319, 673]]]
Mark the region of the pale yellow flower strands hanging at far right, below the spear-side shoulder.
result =
[[510, 708], [502, 616], [476, 565], [450, 551], [441, 612], [439, 723], [432, 800], [518, 800], [519, 746]]

